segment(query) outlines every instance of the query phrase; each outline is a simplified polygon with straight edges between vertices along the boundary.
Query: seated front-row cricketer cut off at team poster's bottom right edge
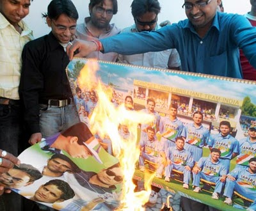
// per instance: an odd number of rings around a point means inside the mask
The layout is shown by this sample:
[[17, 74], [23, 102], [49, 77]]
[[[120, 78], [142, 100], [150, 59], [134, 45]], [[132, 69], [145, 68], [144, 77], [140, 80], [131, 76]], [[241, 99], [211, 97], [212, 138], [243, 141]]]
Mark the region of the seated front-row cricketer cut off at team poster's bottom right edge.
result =
[[246, 169], [236, 168], [227, 175], [224, 196], [224, 203], [232, 205], [232, 194], [236, 191], [253, 203], [248, 210], [256, 210], [256, 157], [249, 160], [249, 167]]

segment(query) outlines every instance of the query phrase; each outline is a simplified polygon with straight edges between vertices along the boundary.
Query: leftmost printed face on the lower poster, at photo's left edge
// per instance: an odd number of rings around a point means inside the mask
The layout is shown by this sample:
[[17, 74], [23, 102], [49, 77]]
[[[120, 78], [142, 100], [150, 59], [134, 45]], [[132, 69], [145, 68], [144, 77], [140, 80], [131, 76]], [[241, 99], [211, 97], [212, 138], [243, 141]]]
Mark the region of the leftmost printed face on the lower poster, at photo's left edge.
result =
[[29, 175], [19, 169], [10, 169], [8, 172], [0, 175], [1, 184], [15, 189], [28, 185], [29, 180]]

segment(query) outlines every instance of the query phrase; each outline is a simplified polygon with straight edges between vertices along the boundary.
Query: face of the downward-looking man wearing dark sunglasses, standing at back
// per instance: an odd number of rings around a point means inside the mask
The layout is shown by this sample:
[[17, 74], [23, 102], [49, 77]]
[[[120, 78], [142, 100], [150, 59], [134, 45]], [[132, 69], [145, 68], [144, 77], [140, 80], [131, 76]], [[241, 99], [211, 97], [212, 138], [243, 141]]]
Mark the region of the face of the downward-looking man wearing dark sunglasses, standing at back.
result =
[[152, 31], [157, 24], [157, 14], [154, 12], [146, 12], [143, 15], [134, 17], [137, 30], [140, 31]]

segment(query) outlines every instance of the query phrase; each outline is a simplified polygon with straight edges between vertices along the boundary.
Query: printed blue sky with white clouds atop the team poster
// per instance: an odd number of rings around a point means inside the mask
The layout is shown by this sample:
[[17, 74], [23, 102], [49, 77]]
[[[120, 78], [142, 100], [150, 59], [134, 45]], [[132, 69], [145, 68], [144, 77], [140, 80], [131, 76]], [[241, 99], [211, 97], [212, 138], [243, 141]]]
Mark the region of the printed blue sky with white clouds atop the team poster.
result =
[[[76, 60], [74, 60], [76, 61]], [[74, 62], [70, 63], [72, 70]], [[124, 65], [100, 63], [100, 75], [102, 82], [108, 84], [112, 82], [115, 86], [124, 90], [133, 90], [133, 80], [153, 82], [185, 90], [198, 91], [202, 93], [220, 95], [226, 98], [243, 100], [248, 96], [253, 104], [256, 104], [256, 84], [246, 84], [242, 82], [223, 81], [194, 75], [171, 74], [156, 70], [145, 70], [143, 68], [131, 68]], [[147, 72], [147, 74], [146, 74]]]

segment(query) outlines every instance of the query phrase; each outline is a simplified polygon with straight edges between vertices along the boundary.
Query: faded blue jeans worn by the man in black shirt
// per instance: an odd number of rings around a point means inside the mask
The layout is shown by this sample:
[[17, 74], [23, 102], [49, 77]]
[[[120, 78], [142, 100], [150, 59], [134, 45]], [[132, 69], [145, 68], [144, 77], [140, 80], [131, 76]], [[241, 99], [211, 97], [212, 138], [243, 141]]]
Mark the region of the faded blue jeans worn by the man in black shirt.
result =
[[40, 104], [40, 130], [45, 138], [66, 130], [79, 121], [74, 104], [65, 107]]

